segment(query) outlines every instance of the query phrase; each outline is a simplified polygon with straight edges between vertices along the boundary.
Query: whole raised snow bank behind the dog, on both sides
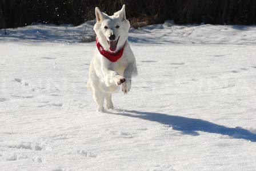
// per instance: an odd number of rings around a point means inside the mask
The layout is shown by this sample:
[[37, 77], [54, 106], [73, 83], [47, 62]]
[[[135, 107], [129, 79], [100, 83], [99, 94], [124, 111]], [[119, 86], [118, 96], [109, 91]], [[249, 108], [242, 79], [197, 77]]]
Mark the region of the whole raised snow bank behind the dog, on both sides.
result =
[[[0, 30], [1, 42], [91, 42], [95, 41], [93, 25], [88, 21], [80, 26], [37, 24], [19, 28]], [[137, 43], [182, 43], [182, 44], [241, 44], [255, 45], [255, 26], [214, 26], [214, 25], [174, 25], [166, 21], [161, 25], [151, 25], [130, 29], [130, 42]]]

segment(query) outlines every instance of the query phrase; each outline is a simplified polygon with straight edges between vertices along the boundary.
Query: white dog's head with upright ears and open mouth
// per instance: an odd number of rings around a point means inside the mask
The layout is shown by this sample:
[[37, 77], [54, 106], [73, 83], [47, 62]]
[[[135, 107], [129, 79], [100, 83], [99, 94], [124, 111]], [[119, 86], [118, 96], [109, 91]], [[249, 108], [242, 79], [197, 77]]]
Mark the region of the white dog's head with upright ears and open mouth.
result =
[[94, 25], [94, 31], [99, 43], [106, 51], [118, 51], [125, 44], [130, 28], [130, 23], [125, 15], [125, 5], [112, 16], [95, 7], [95, 15], [97, 22]]

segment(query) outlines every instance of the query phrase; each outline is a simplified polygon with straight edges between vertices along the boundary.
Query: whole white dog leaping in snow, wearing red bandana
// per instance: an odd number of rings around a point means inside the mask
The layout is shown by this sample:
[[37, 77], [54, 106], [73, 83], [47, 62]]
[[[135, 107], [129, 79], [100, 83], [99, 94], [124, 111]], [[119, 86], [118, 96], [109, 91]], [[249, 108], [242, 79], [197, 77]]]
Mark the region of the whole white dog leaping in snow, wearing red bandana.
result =
[[122, 86], [123, 93], [131, 88], [131, 76], [137, 75], [135, 57], [127, 41], [130, 23], [126, 19], [125, 5], [109, 16], [95, 7], [97, 22], [94, 25], [97, 47], [89, 68], [87, 88], [93, 94], [98, 111], [113, 109], [112, 93]]

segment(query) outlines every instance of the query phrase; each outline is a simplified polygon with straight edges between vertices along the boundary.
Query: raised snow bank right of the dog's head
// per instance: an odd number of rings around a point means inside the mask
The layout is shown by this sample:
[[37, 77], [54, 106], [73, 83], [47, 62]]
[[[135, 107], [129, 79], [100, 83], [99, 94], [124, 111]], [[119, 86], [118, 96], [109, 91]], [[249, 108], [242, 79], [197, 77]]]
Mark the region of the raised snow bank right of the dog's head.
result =
[[174, 25], [167, 21], [131, 30], [130, 40], [139, 43], [255, 45], [255, 26]]

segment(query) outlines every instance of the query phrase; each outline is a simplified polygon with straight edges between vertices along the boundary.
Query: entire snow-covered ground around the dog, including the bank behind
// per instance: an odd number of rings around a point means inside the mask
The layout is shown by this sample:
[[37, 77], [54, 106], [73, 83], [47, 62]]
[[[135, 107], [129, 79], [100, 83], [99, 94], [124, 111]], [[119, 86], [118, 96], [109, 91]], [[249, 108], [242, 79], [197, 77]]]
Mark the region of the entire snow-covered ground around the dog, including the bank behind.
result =
[[255, 26], [131, 29], [139, 75], [106, 113], [92, 26], [0, 31], [0, 170], [255, 170]]

